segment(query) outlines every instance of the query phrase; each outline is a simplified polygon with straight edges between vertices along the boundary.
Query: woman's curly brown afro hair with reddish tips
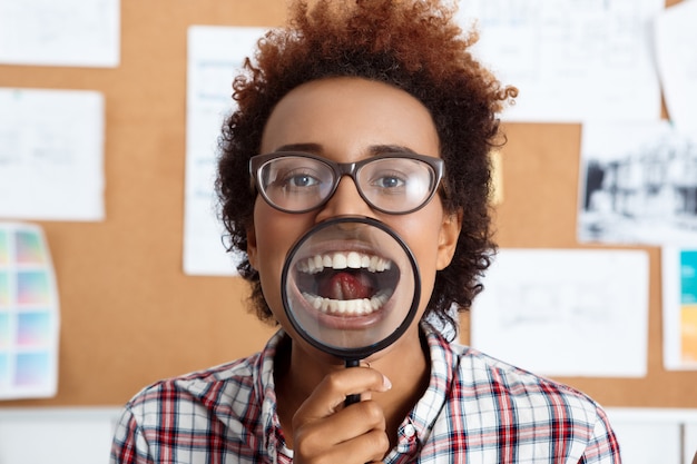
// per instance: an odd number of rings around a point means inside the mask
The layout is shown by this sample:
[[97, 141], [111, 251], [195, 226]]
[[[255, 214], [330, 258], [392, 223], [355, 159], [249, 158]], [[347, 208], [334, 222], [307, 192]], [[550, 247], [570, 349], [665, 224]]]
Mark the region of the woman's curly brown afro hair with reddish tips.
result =
[[472, 57], [478, 36], [463, 34], [453, 16], [454, 7], [435, 0], [318, 0], [312, 7], [298, 0], [287, 26], [268, 31], [255, 60], [245, 60], [245, 71], [233, 83], [237, 109], [219, 140], [216, 191], [228, 251], [242, 256], [238, 270], [252, 284], [261, 319], [273, 316], [246, 256], [257, 195], [251, 188], [249, 158], [258, 154], [275, 105], [292, 89], [328, 77], [360, 77], [411, 93], [435, 124], [445, 162], [446, 194], [441, 196], [449, 213], [461, 215], [462, 231], [452, 263], [435, 277], [424, 317], [434, 316], [457, 332], [451, 308], [471, 307], [495, 253], [489, 152], [502, 142], [497, 113], [518, 91], [501, 86]]

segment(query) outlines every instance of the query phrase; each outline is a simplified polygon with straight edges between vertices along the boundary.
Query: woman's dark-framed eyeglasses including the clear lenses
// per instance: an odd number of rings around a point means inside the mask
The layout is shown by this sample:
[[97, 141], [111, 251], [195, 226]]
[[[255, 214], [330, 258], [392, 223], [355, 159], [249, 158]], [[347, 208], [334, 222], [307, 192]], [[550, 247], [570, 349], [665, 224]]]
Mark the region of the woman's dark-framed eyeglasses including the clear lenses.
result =
[[264, 200], [284, 213], [307, 213], [324, 205], [343, 176], [350, 176], [372, 208], [404, 215], [433, 198], [443, 160], [411, 152], [380, 154], [357, 162], [334, 162], [300, 151], [257, 155], [249, 174]]

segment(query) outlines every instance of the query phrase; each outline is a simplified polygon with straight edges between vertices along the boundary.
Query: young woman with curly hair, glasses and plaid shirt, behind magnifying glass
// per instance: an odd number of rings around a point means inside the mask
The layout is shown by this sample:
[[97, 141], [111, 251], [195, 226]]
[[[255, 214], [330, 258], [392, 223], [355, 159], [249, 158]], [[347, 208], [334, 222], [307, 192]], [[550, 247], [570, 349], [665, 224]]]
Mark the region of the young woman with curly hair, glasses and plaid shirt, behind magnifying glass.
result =
[[[253, 305], [279, 330], [248, 358], [140, 392], [112, 463], [620, 462], [592, 399], [443, 335], [495, 248], [488, 154], [517, 93], [472, 58], [474, 40], [436, 1], [320, 0], [259, 41], [234, 83], [217, 187]], [[288, 253], [338, 217], [384, 224], [420, 272], [415, 318], [355, 368], [298, 334], [283, 302]], [[342, 268], [354, 246], [317, 266]], [[323, 320], [387, 310], [340, 310], [372, 298], [370, 277], [327, 274], [312, 297]]]

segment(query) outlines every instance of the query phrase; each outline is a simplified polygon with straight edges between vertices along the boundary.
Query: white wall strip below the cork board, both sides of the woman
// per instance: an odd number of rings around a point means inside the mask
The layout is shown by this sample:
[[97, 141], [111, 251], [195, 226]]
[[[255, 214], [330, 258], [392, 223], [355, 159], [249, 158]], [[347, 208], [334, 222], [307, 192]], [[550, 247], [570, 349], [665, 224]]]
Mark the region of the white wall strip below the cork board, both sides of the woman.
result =
[[[107, 464], [119, 408], [0, 408], [0, 464]], [[697, 409], [608, 408], [625, 464], [690, 464]]]

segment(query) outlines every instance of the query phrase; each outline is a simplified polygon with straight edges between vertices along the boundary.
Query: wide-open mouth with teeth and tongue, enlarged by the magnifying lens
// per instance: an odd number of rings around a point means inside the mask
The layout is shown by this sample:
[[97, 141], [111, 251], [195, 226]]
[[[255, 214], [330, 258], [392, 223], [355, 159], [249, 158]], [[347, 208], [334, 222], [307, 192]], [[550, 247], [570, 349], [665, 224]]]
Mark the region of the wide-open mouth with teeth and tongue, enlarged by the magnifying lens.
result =
[[400, 279], [397, 266], [365, 251], [334, 251], [301, 259], [297, 289], [315, 310], [338, 317], [380, 312]]

